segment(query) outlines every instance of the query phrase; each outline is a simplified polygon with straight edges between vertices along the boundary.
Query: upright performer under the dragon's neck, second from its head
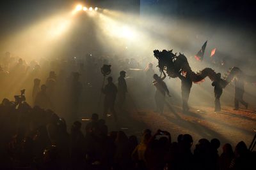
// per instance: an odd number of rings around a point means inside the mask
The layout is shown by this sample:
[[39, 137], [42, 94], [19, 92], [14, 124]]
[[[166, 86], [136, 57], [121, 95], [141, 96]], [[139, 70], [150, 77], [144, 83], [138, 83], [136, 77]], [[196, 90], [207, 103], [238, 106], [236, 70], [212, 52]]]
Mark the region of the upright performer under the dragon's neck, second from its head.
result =
[[192, 80], [188, 72], [185, 75], [179, 74], [179, 78], [181, 80], [182, 108], [183, 111], [189, 111], [188, 99], [192, 87]]

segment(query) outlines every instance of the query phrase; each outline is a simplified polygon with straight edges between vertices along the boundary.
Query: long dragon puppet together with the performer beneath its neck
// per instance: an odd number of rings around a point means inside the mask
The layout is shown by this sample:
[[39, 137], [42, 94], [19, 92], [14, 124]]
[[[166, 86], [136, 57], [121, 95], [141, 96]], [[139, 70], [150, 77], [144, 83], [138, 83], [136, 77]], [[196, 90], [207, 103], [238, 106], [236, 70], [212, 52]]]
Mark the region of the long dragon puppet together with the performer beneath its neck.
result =
[[[188, 59], [182, 53], [173, 53], [173, 50], [154, 50], [154, 57], [158, 60], [158, 66], [160, 72], [166, 71], [170, 78], [179, 77], [182, 80], [182, 88], [185, 89], [186, 94], [184, 94], [188, 101], [188, 96], [190, 93], [190, 89], [192, 86], [192, 82], [197, 83], [199, 81], [204, 80], [206, 77], [209, 77], [211, 81], [219, 81], [222, 88], [225, 88], [236, 76], [236, 78], [243, 79], [244, 81], [254, 83], [256, 82], [256, 76], [248, 76], [239, 69], [239, 67], [232, 67], [224, 78], [220, 78], [218, 73], [216, 73], [213, 69], [206, 67], [202, 71], [195, 73], [192, 71], [189, 66]], [[185, 104], [185, 105], [184, 105]], [[188, 111], [188, 104], [185, 102], [183, 105], [183, 109]]]

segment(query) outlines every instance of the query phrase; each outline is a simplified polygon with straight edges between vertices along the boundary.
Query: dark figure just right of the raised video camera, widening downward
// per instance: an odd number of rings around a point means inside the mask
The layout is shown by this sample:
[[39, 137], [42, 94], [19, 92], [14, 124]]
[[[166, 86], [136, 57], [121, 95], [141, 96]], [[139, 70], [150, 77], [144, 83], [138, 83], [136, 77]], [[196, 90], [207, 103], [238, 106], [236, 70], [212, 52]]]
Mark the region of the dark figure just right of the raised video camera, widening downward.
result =
[[52, 109], [52, 103], [50, 97], [47, 95], [46, 85], [41, 85], [41, 91], [36, 94], [35, 106], [39, 106], [42, 109]]

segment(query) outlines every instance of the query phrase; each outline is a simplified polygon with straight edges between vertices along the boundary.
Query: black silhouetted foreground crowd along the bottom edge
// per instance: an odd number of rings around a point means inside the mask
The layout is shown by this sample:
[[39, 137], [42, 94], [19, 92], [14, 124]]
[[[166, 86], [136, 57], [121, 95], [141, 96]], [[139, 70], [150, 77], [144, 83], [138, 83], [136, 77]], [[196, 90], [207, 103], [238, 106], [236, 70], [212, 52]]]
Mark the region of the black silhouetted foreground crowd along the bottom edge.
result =
[[0, 121], [1, 169], [255, 169], [255, 152], [243, 141], [218, 153], [218, 139], [200, 139], [192, 151], [189, 134], [176, 141], [169, 132], [145, 129], [138, 139], [109, 132], [96, 113], [85, 129], [76, 121], [68, 132], [56, 113], [4, 99]]

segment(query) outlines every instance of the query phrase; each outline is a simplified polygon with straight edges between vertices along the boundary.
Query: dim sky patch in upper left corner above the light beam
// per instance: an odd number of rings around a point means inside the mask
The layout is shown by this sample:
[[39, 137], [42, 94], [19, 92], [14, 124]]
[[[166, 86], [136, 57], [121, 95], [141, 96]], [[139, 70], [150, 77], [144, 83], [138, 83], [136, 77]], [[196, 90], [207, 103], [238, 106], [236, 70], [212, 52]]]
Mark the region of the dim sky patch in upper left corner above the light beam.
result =
[[3, 0], [0, 5], [1, 32], [17, 29], [67, 6], [61, 0]]

